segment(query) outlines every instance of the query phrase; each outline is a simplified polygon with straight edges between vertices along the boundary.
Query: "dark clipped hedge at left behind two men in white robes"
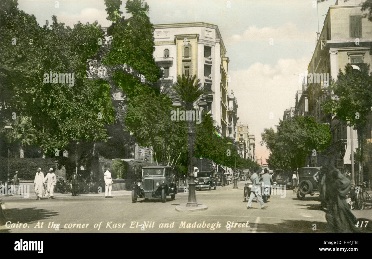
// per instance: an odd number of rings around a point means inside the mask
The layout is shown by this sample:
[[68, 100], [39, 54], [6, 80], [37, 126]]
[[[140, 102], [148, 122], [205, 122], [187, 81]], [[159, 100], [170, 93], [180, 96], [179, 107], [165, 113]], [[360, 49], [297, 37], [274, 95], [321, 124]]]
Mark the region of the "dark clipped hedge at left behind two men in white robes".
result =
[[[44, 176], [48, 173], [49, 168], [55, 169], [54, 161], [59, 161], [59, 166], [65, 165], [66, 174], [67, 171], [70, 171], [72, 164], [67, 158], [19, 158], [19, 157], [10, 157], [10, 176], [13, 178], [15, 171], [18, 171], [18, 178], [22, 180], [34, 180], [35, 174], [38, 171], [38, 167], [41, 167], [41, 171], [44, 173]], [[6, 180], [6, 175], [8, 171], [8, 158], [0, 157], [0, 181]]]

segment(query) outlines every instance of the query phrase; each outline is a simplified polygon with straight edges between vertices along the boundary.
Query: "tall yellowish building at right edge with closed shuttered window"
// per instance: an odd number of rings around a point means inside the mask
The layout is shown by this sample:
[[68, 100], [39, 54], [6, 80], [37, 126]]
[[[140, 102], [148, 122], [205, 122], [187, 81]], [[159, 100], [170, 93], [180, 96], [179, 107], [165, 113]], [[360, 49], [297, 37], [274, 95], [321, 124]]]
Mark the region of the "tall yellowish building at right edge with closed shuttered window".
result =
[[[356, 130], [349, 129], [345, 122], [326, 114], [321, 108], [321, 102], [325, 100], [323, 91], [327, 88], [330, 78], [337, 80], [339, 70], [344, 71], [347, 63], [357, 69], [360, 69], [363, 63], [372, 63], [372, 24], [367, 18], [363, 18], [363, 12], [360, 10], [362, 2], [337, 0], [329, 7], [308, 66], [308, 77], [305, 77], [308, 83], [306, 93], [309, 114], [317, 122], [330, 126], [333, 134], [330, 150], [335, 155], [339, 168], [351, 164], [350, 138], [356, 136]], [[353, 148], [357, 148], [357, 141], [353, 142]]]

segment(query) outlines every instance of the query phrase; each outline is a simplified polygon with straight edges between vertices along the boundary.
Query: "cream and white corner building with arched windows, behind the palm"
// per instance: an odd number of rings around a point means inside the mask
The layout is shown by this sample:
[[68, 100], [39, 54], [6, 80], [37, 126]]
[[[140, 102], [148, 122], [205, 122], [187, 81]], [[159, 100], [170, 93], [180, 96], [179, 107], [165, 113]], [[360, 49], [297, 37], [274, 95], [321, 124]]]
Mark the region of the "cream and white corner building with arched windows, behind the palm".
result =
[[[196, 75], [213, 92], [199, 101], [198, 108], [212, 114], [223, 137], [231, 135], [228, 131], [227, 90], [230, 60], [218, 26], [202, 22], [173, 23], [157, 24], [154, 29], [153, 55], [157, 65], [164, 70], [163, 82], [172, 84], [179, 75]], [[177, 105], [175, 100], [174, 105]], [[233, 128], [231, 132], [233, 134]]]

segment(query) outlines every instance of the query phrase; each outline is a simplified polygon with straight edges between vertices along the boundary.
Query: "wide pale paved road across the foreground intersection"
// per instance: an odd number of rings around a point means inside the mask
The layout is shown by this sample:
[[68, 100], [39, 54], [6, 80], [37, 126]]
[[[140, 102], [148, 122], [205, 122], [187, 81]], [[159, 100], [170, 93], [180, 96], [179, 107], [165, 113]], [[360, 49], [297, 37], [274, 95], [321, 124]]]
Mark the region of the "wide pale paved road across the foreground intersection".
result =
[[[55, 194], [56, 198], [52, 200], [35, 200], [32, 196], [28, 199], [4, 197], [6, 221], [26, 223], [27, 226], [12, 227], [8, 223], [6, 227], [1, 223], [0, 232], [324, 233], [328, 231], [325, 212], [319, 210], [320, 202], [317, 197], [307, 196], [305, 200], [298, 200], [292, 190], [286, 190], [285, 197], [272, 195], [267, 203], [267, 209], [261, 210], [259, 204], [254, 202], [254, 209], [247, 210], [243, 199], [243, 184], [243, 182], [238, 184], [240, 190], [228, 190], [232, 188], [230, 185], [217, 187], [217, 190], [197, 191], [198, 203], [207, 204], [209, 207], [207, 210], [192, 213], [175, 210], [175, 206], [187, 202], [187, 194], [184, 193], [177, 194], [175, 200], [168, 199], [166, 203], [161, 203], [160, 199], [149, 202], [139, 199], [137, 203], [132, 203], [129, 192], [126, 191], [118, 191], [113, 194], [114, 198], [109, 199], [105, 199], [103, 194], [78, 197]], [[353, 211], [353, 213], [357, 218], [372, 219], [372, 210]], [[44, 224], [41, 228], [39, 226], [42, 222]], [[49, 222], [59, 223], [58, 230], [51, 224], [48, 227]], [[102, 223], [98, 230], [100, 222]], [[195, 222], [196, 224], [193, 225]], [[227, 230], [229, 222], [230, 230]], [[370, 223], [372, 225], [372, 220]], [[80, 228], [77, 224], [81, 224]], [[95, 224], [97, 224], [96, 228]], [[314, 224], [316, 230], [313, 230]]]

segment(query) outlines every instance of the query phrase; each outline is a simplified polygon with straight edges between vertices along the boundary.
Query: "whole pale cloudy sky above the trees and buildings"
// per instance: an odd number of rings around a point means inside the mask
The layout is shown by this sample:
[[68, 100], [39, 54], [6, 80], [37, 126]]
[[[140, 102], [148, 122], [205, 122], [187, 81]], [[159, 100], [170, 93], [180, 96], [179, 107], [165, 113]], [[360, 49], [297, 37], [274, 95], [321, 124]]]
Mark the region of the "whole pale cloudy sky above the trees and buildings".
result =
[[[19, 0], [19, 9], [34, 14], [40, 26], [56, 15], [73, 26], [98, 21], [108, 27], [104, 1]], [[58, 2], [58, 3], [57, 3]], [[148, 0], [153, 24], [206, 22], [216, 24], [230, 59], [228, 91], [234, 91], [238, 117], [256, 137], [256, 157], [265, 161], [264, 128], [278, 125], [286, 108], [294, 107], [296, 91], [315, 48], [325, 14], [336, 0]], [[58, 6], [58, 7], [57, 7]], [[122, 4], [125, 14], [125, 0]], [[319, 22], [318, 22], [319, 21]], [[271, 115], [271, 116], [270, 116]]]

